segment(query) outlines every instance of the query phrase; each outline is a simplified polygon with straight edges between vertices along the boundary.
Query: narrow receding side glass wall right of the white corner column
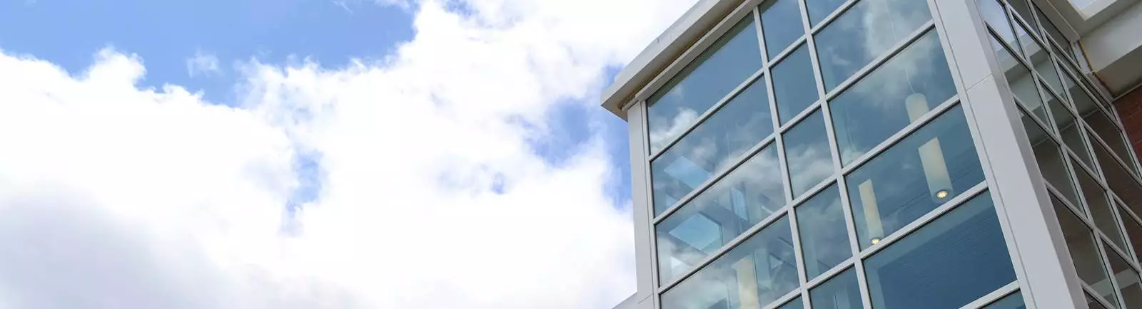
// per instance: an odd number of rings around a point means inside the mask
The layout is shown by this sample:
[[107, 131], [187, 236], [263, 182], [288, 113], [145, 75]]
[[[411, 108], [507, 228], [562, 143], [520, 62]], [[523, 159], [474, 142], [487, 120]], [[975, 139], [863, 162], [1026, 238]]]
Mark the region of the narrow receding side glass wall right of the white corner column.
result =
[[978, 3], [1091, 308], [1142, 308], [1142, 182], [1112, 106], [1034, 2]]

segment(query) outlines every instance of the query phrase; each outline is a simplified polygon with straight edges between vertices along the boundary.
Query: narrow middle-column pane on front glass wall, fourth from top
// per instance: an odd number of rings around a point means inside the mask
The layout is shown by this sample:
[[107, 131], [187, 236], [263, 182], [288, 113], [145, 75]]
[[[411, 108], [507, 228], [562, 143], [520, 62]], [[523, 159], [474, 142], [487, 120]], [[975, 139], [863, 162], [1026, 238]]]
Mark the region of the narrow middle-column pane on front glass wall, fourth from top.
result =
[[802, 257], [809, 279], [853, 255], [837, 185], [797, 206], [797, 230], [801, 231]]

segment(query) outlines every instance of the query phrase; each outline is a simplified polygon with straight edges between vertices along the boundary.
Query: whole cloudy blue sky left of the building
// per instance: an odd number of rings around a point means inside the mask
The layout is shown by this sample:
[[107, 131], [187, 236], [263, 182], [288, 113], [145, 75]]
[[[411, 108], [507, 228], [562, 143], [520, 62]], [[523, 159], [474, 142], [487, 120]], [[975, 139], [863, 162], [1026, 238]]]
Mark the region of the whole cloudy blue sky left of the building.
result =
[[0, 1], [0, 309], [609, 309], [693, 2]]

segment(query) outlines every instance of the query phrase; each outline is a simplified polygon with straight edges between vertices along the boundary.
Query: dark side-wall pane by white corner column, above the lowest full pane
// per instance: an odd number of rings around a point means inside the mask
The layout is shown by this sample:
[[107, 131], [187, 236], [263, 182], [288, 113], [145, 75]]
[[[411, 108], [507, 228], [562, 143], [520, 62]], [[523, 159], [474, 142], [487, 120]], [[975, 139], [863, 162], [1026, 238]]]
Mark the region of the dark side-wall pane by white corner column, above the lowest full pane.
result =
[[1039, 127], [1031, 120], [1027, 112], [1023, 112], [1023, 129], [1027, 131], [1027, 137], [1031, 141], [1031, 148], [1035, 151], [1035, 161], [1039, 164], [1039, 172], [1043, 173], [1043, 179], [1047, 180], [1052, 187], [1057, 189], [1063, 194], [1063, 197], [1072, 205], [1081, 205], [1078, 201], [1078, 194], [1075, 190], [1075, 182], [1071, 181], [1070, 173], [1067, 171], [1067, 165], [1063, 163], [1062, 148], [1059, 144], [1051, 139], [1047, 131]]

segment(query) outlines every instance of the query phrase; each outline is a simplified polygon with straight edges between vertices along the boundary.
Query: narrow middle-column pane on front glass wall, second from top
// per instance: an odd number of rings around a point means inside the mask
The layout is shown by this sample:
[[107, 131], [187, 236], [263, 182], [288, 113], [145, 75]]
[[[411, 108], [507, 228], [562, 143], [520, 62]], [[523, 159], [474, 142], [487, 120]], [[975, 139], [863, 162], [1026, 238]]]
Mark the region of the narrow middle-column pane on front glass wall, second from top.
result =
[[805, 44], [773, 67], [773, 95], [782, 124], [817, 101], [817, 79]]

